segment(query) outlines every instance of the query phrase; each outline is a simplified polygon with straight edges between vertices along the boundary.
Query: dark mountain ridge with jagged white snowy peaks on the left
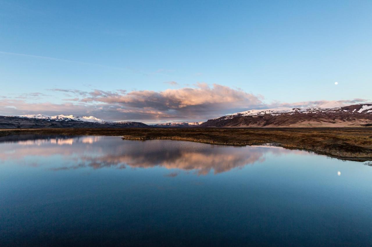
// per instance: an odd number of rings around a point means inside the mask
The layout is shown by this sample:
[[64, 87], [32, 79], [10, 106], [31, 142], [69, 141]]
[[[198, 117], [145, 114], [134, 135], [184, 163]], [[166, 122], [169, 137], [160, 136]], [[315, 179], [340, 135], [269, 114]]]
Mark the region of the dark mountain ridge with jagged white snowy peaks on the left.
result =
[[0, 129], [10, 128], [148, 128], [141, 122], [110, 122], [94, 116], [42, 114], [21, 116], [0, 116]]

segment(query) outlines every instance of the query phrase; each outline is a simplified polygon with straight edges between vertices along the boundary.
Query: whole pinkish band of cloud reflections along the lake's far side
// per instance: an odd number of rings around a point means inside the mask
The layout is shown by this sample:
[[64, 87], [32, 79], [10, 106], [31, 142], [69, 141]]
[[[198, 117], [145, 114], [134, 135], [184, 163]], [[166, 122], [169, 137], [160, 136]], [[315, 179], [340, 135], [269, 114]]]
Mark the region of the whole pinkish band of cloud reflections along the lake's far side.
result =
[[[58, 167], [49, 167], [54, 171], [84, 167], [164, 167], [196, 171], [199, 175], [211, 171], [218, 174], [263, 162], [267, 153], [281, 155], [294, 152], [269, 146], [234, 147], [166, 140], [128, 141], [118, 136], [49, 136], [44, 139], [22, 139], [2, 146], [0, 161], [33, 157], [39, 158], [39, 163], [48, 165], [45, 157], [59, 155], [64, 162], [60, 162]], [[172, 172], [168, 175], [175, 177], [178, 174]]]

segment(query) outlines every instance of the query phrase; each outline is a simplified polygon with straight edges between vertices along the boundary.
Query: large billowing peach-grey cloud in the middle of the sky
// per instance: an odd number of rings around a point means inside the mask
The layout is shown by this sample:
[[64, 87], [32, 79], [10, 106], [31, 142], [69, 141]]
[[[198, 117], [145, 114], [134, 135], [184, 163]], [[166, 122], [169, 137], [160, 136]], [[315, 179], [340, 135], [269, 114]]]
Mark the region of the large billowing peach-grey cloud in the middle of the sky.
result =
[[198, 83], [196, 88], [166, 89], [161, 92], [150, 90], [128, 93], [103, 92], [82, 99], [83, 102], [119, 104], [130, 108], [151, 108], [176, 113], [208, 113], [231, 108], [263, 105], [261, 96], [246, 93], [240, 89], [214, 84], [212, 87]]

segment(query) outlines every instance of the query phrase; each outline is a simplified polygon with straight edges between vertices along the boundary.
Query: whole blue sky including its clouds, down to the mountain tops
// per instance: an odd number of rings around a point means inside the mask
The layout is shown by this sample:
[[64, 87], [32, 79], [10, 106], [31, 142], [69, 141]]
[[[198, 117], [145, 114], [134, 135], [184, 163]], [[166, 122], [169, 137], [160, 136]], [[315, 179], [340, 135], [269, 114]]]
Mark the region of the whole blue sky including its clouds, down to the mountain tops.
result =
[[155, 123], [372, 101], [371, 13], [357, 0], [0, 0], [0, 115]]

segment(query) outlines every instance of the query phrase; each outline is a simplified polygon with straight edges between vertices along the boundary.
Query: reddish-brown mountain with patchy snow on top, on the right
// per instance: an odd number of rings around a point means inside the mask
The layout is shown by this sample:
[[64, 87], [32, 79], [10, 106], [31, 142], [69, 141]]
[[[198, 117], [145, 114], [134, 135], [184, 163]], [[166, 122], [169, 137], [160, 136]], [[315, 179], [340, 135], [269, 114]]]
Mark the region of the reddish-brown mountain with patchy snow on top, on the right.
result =
[[200, 127], [357, 127], [372, 125], [372, 103], [312, 108], [273, 108], [209, 119]]

